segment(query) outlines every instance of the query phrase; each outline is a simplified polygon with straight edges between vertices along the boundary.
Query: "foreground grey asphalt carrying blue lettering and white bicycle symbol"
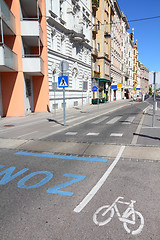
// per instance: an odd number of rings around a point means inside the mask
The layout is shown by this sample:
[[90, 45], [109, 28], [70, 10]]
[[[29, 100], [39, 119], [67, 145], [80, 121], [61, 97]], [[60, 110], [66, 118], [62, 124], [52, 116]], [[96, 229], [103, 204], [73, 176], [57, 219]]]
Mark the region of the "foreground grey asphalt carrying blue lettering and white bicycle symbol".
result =
[[[0, 156], [1, 240], [159, 240], [159, 161], [120, 155], [106, 162], [77, 161], [13, 150], [1, 150]], [[131, 200], [134, 207], [122, 217]], [[105, 216], [98, 210], [111, 205]], [[125, 226], [126, 219], [131, 222]]]

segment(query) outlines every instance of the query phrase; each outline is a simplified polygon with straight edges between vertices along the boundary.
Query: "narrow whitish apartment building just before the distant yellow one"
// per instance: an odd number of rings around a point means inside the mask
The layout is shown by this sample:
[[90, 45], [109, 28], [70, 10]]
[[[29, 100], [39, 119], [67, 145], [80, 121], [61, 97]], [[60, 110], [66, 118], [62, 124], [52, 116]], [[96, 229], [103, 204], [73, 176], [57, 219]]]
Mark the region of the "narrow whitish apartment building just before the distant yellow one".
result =
[[130, 26], [127, 17], [122, 12], [122, 99], [130, 98], [133, 90], [133, 43], [128, 29]]

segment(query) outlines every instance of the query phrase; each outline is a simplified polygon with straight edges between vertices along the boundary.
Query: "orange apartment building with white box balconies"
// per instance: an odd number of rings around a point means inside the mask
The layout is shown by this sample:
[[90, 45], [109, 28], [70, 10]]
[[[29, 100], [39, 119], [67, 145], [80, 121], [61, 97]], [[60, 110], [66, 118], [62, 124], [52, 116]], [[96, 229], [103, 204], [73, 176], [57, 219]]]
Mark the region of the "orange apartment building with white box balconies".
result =
[[49, 106], [45, 0], [0, 0], [0, 115]]

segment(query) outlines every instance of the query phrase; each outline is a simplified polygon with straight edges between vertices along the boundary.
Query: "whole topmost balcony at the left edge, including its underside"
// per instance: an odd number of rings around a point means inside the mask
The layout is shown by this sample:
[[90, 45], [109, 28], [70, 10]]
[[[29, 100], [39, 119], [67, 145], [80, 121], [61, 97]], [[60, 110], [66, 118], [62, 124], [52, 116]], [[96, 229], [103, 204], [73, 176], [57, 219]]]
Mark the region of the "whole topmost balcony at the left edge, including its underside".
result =
[[9, 10], [4, 0], [0, 0], [0, 19], [2, 19], [3, 21], [3, 34], [15, 35], [16, 34], [15, 17]]

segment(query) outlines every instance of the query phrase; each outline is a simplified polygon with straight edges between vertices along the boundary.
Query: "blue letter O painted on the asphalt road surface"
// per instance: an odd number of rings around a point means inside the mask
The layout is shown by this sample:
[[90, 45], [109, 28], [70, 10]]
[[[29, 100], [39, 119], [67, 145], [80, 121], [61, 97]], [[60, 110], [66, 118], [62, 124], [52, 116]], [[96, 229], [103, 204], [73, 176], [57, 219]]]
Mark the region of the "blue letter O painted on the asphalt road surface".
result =
[[[30, 186], [27, 186], [25, 185], [25, 182], [27, 180], [29, 180], [30, 178], [38, 175], [38, 174], [45, 174], [46, 177], [43, 178], [40, 182], [34, 184], [34, 185], [30, 185]], [[33, 173], [30, 173], [29, 175], [25, 176], [24, 178], [22, 178], [18, 183], [17, 183], [17, 186], [19, 188], [26, 188], [26, 189], [30, 189], [30, 188], [37, 188], [37, 187], [41, 187], [42, 185], [46, 184], [51, 178], [53, 177], [53, 173], [51, 172], [48, 172], [48, 171], [37, 171], [37, 172], [33, 172]]]

